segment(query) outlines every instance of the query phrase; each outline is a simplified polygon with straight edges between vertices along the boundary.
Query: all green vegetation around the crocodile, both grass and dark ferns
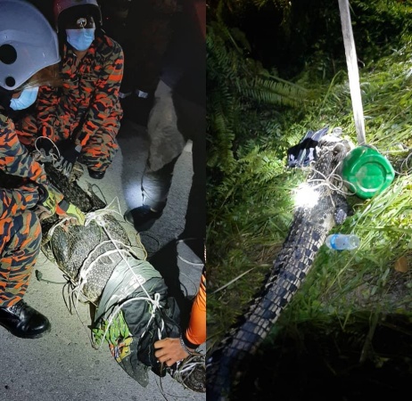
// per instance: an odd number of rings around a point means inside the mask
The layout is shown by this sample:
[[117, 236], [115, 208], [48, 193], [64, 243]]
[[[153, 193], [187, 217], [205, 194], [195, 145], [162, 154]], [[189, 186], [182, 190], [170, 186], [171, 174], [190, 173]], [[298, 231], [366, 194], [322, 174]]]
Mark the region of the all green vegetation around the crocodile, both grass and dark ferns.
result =
[[[276, 40], [286, 41], [305, 2], [254, 3], [260, 12], [280, 12], [285, 33]], [[287, 80], [276, 65], [263, 67], [252, 57], [257, 44], [238, 28], [247, 25], [244, 12], [253, 2], [228, 2], [232, 8], [219, 2], [209, 10], [209, 348], [247, 308], [284, 241], [293, 215], [291, 193], [305, 178], [301, 170], [285, 168], [286, 150], [309, 129], [325, 126], [342, 127], [357, 142], [337, 1], [309, 3], [312, 12], [322, 10], [328, 24], [317, 31], [316, 43], [305, 47], [301, 70]], [[360, 248], [337, 254], [322, 247], [267, 343], [276, 343], [282, 331], [303, 336], [296, 328], [309, 321], [312, 330], [330, 332], [332, 325], [353, 331], [361, 320], [370, 344], [374, 331], [368, 331], [385, 316], [401, 314], [406, 323], [412, 318], [412, 270], [395, 269], [399, 260], [410, 265], [412, 256], [412, 10], [408, 2], [389, 0], [350, 5], [367, 143], [386, 155], [398, 174], [374, 199], [349, 200], [354, 214], [334, 232], [358, 234]], [[309, 42], [312, 28], [300, 22]]]

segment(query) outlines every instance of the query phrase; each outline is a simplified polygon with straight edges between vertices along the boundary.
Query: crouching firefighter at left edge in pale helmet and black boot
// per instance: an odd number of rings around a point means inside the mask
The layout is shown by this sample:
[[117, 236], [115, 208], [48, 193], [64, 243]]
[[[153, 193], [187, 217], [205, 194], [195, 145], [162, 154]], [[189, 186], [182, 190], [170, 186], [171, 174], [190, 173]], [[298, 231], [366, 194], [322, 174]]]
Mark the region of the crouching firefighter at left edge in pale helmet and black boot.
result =
[[[0, 325], [33, 339], [49, 320], [23, 300], [40, 250], [37, 214], [58, 212], [84, 222], [82, 213], [48, 184], [45, 171], [21, 146], [8, 116], [36, 101], [38, 86], [58, 81], [57, 36], [44, 15], [23, 0], [0, 2]], [[12, 186], [10, 179], [18, 178]], [[59, 203], [60, 202], [60, 203]], [[67, 205], [66, 212], [61, 209]]]

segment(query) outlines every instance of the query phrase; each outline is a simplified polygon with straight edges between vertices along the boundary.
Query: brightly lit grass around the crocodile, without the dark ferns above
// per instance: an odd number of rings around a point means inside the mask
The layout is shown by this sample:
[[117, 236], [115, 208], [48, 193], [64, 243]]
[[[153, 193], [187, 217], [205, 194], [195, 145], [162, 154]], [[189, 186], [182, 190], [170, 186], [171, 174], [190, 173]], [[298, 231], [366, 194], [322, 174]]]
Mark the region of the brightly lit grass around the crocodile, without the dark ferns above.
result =
[[[391, 56], [360, 71], [367, 143], [386, 155], [398, 174], [372, 200], [350, 199], [353, 216], [333, 232], [358, 234], [359, 249], [337, 255], [322, 247], [269, 342], [291, 326], [309, 321], [323, 322], [325, 329], [333, 320], [344, 330], [360, 313], [367, 322], [377, 311], [379, 322], [384, 315], [411, 315], [412, 273], [394, 268], [401, 257], [410, 264], [412, 256], [412, 176], [410, 163], [405, 163], [412, 148], [410, 45], [406, 41]], [[336, 82], [325, 88], [316, 104], [307, 106], [304, 119], [286, 121], [284, 135], [301, 137], [309, 129], [328, 125], [342, 127], [344, 135], [356, 143], [349, 87], [342, 78]], [[278, 151], [276, 141], [268, 138], [265, 148], [252, 150], [237, 162], [230, 191], [215, 188], [218, 199], [219, 190], [227, 196], [223, 204], [210, 208], [209, 349], [227, 334], [260, 289], [292, 219], [291, 193], [304, 176], [284, 168]], [[268, 176], [274, 166], [276, 174]]]

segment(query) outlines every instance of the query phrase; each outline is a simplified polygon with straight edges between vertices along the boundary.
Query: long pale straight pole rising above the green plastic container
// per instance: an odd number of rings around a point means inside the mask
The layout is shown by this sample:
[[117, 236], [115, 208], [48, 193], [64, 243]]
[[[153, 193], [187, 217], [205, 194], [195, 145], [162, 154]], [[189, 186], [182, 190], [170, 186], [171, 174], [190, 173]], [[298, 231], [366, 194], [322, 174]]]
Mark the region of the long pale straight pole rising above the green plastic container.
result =
[[350, 86], [350, 98], [352, 100], [353, 117], [355, 119], [358, 144], [366, 143], [365, 121], [363, 116], [362, 96], [360, 94], [358, 57], [356, 55], [355, 41], [353, 39], [352, 24], [350, 20], [349, 0], [339, 0], [341, 12], [343, 44], [345, 46], [346, 63]]

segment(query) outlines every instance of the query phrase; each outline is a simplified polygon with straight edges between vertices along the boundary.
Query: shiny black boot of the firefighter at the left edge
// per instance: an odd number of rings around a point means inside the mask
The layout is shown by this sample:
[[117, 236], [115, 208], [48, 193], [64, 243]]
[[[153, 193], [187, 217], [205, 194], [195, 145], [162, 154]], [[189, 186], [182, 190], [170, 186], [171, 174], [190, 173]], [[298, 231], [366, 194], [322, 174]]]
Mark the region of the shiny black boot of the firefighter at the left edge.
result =
[[0, 307], [0, 324], [21, 339], [38, 339], [52, 327], [47, 317], [23, 299], [12, 307]]

